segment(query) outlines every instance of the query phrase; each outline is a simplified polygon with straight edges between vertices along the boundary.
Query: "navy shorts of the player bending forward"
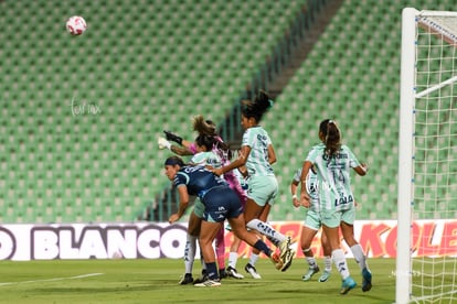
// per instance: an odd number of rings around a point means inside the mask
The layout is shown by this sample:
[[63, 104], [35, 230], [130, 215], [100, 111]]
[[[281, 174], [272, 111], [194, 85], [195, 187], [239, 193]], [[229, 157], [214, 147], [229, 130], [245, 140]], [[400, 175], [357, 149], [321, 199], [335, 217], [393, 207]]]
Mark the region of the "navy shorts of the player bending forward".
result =
[[202, 198], [204, 204], [203, 219], [221, 222], [226, 218], [236, 218], [243, 213], [243, 207], [236, 193], [228, 186], [212, 188]]

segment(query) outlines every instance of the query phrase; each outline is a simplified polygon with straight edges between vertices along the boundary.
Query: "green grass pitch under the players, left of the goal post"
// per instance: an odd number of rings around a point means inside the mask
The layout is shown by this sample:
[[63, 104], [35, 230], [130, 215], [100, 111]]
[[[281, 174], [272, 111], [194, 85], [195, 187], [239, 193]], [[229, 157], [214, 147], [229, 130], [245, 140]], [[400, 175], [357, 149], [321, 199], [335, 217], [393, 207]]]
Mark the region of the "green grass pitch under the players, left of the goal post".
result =
[[[240, 259], [238, 272], [247, 260]], [[319, 260], [322, 265], [322, 261]], [[247, 274], [243, 280], [225, 279], [219, 287], [179, 285], [184, 267], [181, 259], [158, 260], [53, 260], [0, 262], [0, 303], [393, 303], [395, 297], [395, 260], [371, 259], [373, 289], [362, 292], [359, 267], [348, 264], [355, 290], [340, 295], [341, 279], [333, 267], [326, 283], [302, 282], [304, 259], [294, 260], [286, 272], [261, 259], [257, 270], [262, 280]], [[200, 261], [195, 261], [194, 278]]]

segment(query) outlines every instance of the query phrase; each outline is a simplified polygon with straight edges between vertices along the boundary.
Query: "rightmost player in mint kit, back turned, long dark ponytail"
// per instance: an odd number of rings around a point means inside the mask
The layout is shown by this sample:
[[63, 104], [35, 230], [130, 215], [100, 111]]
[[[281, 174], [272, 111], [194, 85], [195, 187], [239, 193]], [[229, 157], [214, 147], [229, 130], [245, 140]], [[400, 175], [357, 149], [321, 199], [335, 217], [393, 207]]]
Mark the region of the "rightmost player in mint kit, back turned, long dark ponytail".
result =
[[[360, 164], [351, 150], [341, 144], [340, 130], [334, 121], [326, 119], [320, 123], [319, 139], [321, 143], [312, 148], [302, 166], [300, 203], [310, 204], [306, 176], [313, 166], [319, 180], [318, 192], [322, 229], [330, 243], [333, 262], [342, 278], [340, 293], [346, 294], [354, 289], [357, 283], [350, 276], [344, 252], [340, 247], [339, 228], [341, 227], [343, 235], [347, 234], [348, 231], [344, 230], [352, 227], [355, 218], [350, 171], [353, 169], [363, 176], [366, 174], [368, 166]], [[358, 249], [361, 251], [360, 246]], [[357, 251], [357, 253], [354, 256], [357, 261], [364, 263], [363, 251]], [[362, 275], [362, 290], [368, 291], [371, 289], [371, 272], [366, 267], [363, 268]]]

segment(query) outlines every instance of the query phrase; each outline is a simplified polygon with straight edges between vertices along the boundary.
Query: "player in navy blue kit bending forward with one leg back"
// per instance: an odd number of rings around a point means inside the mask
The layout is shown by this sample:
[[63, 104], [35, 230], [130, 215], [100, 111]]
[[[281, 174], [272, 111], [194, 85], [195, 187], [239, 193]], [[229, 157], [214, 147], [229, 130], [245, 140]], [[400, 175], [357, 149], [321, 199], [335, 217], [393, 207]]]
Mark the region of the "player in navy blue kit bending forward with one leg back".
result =
[[179, 194], [179, 209], [169, 217], [170, 224], [183, 216], [189, 206], [190, 195], [196, 195], [204, 205], [199, 242], [206, 264], [206, 280], [194, 286], [221, 285], [212, 243], [219, 230], [223, 228], [225, 219], [240, 239], [269, 257], [276, 269], [283, 269], [284, 259], [274, 253], [257, 236], [246, 230], [240, 198], [224, 180], [204, 166], [185, 165], [179, 156], [170, 156], [166, 160], [164, 173], [170, 181], [173, 181]]

